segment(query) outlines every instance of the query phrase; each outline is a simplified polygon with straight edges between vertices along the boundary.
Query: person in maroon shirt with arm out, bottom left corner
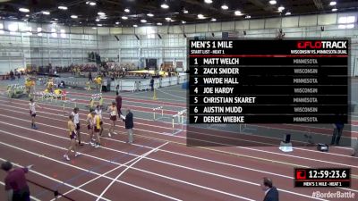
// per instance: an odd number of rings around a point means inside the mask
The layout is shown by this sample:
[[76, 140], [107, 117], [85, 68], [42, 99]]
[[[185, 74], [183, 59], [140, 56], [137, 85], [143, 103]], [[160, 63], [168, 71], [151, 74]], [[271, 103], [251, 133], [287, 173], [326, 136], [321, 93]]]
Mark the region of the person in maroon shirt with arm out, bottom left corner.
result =
[[1, 169], [7, 172], [4, 179], [7, 201], [30, 201], [30, 189], [26, 181], [25, 173], [29, 172], [32, 165], [24, 168], [14, 168], [10, 162], [1, 164]]

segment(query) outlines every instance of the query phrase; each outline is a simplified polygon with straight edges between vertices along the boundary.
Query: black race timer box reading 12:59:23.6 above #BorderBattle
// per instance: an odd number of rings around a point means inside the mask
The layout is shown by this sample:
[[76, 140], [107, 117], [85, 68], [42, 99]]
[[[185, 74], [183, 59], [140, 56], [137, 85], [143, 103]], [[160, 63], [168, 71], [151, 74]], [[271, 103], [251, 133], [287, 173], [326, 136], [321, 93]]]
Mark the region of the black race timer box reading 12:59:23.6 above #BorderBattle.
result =
[[350, 187], [351, 170], [294, 169], [294, 187]]

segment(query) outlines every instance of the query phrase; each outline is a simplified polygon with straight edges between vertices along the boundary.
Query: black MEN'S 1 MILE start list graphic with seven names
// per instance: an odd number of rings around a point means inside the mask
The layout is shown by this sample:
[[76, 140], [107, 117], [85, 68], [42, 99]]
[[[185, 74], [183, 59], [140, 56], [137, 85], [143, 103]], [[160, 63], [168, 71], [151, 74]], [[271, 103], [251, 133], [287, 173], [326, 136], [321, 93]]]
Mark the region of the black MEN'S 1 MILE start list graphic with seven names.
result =
[[190, 123], [348, 121], [347, 39], [189, 39]]

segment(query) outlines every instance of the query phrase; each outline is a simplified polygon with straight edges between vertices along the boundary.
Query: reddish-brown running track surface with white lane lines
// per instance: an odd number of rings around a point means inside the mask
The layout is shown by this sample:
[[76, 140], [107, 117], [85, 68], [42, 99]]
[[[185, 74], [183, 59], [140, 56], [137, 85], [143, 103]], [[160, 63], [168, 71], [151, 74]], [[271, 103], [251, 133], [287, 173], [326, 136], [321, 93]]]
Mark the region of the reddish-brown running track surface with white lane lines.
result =
[[[185, 147], [185, 133], [176, 137], [165, 134], [171, 132], [169, 124], [137, 119], [135, 144], [124, 143], [126, 135], [123, 123], [119, 122], [117, 131], [120, 135], [102, 138], [104, 147], [80, 147], [82, 155], [72, 158], [71, 162], [65, 162], [62, 155], [65, 147], [68, 147], [69, 139], [65, 130], [66, 119], [58, 114], [62, 113], [61, 107], [42, 105], [44, 108], [38, 109], [37, 117], [39, 130], [31, 130], [28, 102], [12, 100], [10, 103], [9, 99], [0, 98], [0, 105], [1, 158], [11, 159], [21, 165], [34, 163], [34, 172], [30, 172], [28, 178], [47, 187], [55, 187], [58, 186], [58, 181], [65, 181], [67, 185], [58, 188], [61, 193], [81, 186], [98, 177], [98, 174], [114, 170], [121, 163], [147, 153], [167, 141], [169, 143], [157, 152], [135, 163], [108, 189], [104, 197], [110, 200], [261, 200], [263, 192], [259, 186], [260, 178], [268, 176], [279, 188], [280, 200], [320, 200], [311, 197], [312, 192], [318, 188], [293, 188], [293, 164], [312, 167], [346, 166], [352, 168], [354, 174], [358, 174], [358, 159], [348, 156], [350, 150], [343, 148], [333, 147], [330, 153], [320, 153], [313, 148], [296, 148], [289, 154], [279, 152], [277, 147], [211, 147], [210, 149], [215, 149], [212, 151]], [[81, 119], [84, 118], [85, 114], [81, 113]], [[82, 132], [86, 132], [84, 122], [81, 124]], [[108, 128], [107, 124], [105, 126]], [[105, 136], [106, 134], [107, 132]], [[197, 135], [215, 137], [217, 132], [201, 133], [197, 130]], [[83, 133], [83, 137], [88, 141], [87, 134]], [[276, 144], [277, 139], [268, 140], [268, 143], [271, 142]], [[113, 163], [109, 163], [113, 160]], [[93, 168], [96, 170], [83, 173]], [[96, 200], [96, 196], [125, 168], [125, 165], [119, 167], [105, 177], [84, 185], [81, 190], [73, 190], [68, 196], [75, 200]], [[80, 174], [83, 175], [71, 180]], [[0, 179], [3, 178], [4, 172], [0, 175]], [[319, 190], [353, 190], [358, 194], [356, 181], [353, 179], [352, 189]], [[40, 200], [51, 199], [50, 193], [43, 194], [42, 189], [32, 185], [30, 188], [32, 196], [39, 195]]]

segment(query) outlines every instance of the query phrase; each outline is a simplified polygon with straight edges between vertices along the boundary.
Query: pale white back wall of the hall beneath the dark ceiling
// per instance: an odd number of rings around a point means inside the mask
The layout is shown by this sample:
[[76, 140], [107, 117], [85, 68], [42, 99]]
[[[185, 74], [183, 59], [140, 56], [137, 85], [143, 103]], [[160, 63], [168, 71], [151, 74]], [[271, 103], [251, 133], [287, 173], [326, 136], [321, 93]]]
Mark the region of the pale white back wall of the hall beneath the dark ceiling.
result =
[[[338, 19], [342, 16], [355, 16], [355, 28], [339, 29]], [[0, 73], [23, 63], [38, 65], [84, 63], [90, 51], [98, 51], [102, 61], [108, 59], [140, 65], [140, 61], [146, 58], [157, 58], [158, 64], [175, 60], [183, 62], [186, 66], [187, 38], [195, 36], [211, 38], [212, 34], [221, 38], [223, 31], [235, 31], [240, 38], [276, 38], [278, 29], [282, 29], [286, 33], [286, 38], [351, 38], [351, 74], [357, 75], [358, 70], [354, 71], [354, 66], [358, 66], [354, 62], [358, 59], [357, 17], [357, 13], [329, 13], [263, 20], [98, 29], [16, 23], [20, 30], [31, 27], [32, 31], [35, 31], [32, 36], [28, 36], [26, 30], [10, 35], [6, 29], [14, 22], [0, 21], [5, 30], [4, 34], [0, 33]], [[38, 27], [49, 33], [43, 33], [42, 37], [38, 37], [36, 33]], [[321, 31], [321, 27], [324, 27], [324, 31]], [[53, 29], [57, 33], [56, 38], [51, 36]], [[64, 30], [65, 38], [61, 38], [61, 29]], [[9, 52], [16, 53], [16, 56], [12, 54], [9, 57], [7, 55]], [[6, 54], [3, 55], [3, 53]]]

